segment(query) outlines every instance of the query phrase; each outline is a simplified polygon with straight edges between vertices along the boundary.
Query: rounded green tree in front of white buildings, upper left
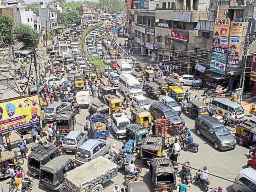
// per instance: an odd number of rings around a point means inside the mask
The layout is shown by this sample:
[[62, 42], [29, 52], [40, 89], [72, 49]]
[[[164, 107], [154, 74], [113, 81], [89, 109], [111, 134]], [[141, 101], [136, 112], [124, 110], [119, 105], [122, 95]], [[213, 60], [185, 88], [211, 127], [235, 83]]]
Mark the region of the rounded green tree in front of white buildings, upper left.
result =
[[20, 24], [16, 27], [15, 37], [18, 41], [23, 42], [25, 47], [38, 47], [38, 33], [28, 25]]

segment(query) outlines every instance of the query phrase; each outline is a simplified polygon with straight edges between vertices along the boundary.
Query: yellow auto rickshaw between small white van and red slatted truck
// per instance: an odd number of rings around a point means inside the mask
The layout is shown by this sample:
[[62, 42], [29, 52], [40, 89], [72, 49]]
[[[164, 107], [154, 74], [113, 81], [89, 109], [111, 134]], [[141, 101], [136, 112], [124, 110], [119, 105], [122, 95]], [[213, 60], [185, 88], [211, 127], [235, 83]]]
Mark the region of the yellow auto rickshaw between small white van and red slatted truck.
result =
[[131, 121], [133, 123], [140, 124], [148, 130], [151, 129], [151, 114], [148, 110], [145, 110], [144, 108], [130, 108], [130, 111], [132, 112]]

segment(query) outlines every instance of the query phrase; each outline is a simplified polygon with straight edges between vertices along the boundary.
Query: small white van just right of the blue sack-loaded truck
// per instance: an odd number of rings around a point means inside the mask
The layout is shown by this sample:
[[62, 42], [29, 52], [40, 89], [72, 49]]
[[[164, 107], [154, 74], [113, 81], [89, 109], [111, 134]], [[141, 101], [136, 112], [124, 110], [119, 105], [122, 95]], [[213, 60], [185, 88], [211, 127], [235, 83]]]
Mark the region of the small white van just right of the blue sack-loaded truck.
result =
[[125, 113], [116, 113], [111, 116], [111, 127], [117, 139], [126, 137], [126, 125], [130, 120]]

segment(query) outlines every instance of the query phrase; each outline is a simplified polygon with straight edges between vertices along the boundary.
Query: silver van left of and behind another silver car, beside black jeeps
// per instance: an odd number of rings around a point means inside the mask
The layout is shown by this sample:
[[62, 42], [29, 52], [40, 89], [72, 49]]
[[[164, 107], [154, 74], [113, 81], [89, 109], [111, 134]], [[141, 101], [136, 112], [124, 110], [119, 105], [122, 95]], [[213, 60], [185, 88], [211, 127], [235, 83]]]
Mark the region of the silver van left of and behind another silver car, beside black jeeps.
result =
[[70, 131], [62, 142], [62, 150], [65, 152], [76, 152], [87, 140], [87, 131]]

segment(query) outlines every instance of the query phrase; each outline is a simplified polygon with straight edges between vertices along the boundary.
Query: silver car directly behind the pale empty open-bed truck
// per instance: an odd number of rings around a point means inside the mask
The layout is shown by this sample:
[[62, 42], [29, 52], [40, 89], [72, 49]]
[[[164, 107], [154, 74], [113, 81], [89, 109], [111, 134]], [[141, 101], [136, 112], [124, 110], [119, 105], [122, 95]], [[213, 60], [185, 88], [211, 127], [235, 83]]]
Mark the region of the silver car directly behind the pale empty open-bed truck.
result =
[[89, 139], [76, 151], [76, 162], [80, 165], [99, 156], [104, 156], [110, 151], [111, 143], [104, 139]]

